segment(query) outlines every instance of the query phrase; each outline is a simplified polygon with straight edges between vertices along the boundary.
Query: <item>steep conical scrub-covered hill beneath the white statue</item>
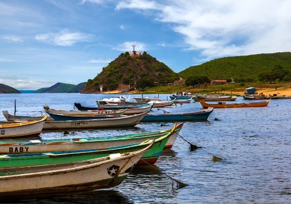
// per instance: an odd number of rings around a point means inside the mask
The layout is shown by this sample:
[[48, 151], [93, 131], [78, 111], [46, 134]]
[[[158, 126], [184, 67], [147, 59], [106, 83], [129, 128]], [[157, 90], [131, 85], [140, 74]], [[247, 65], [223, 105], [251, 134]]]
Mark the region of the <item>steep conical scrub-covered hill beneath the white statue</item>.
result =
[[178, 79], [177, 73], [146, 52], [133, 55], [126, 52], [103, 67], [93, 80], [89, 79], [83, 93], [99, 92], [100, 85], [103, 85], [103, 91], [144, 89], [171, 84]]

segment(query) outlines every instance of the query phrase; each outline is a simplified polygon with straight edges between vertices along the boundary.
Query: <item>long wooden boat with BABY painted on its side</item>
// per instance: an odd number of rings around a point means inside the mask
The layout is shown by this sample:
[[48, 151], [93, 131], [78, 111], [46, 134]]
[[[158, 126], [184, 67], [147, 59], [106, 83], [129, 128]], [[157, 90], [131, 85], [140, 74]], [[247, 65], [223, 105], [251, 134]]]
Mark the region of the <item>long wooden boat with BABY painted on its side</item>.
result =
[[143, 132], [120, 136], [102, 136], [98, 138], [52, 139], [52, 140], [0, 140], [0, 154], [22, 154], [51, 151], [69, 151], [82, 149], [104, 149], [112, 146], [129, 145], [144, 140], [159, 138], [171, 133], [166, 148], [172, 148], [183, 123], [172, 129]]

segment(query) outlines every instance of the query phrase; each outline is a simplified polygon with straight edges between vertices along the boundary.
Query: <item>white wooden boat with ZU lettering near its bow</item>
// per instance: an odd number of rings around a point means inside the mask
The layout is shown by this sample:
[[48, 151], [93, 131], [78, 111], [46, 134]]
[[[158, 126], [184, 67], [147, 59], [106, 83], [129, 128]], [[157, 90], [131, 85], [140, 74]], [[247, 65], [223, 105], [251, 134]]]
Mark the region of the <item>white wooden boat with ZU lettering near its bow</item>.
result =
[[86, 110], [86, 111], [77, 111], [77, 110], [57, 110], [50, 109], [48, 106], [43, 107], [46, 113], [53, 114], [62, 114], [62, 115], [90, 115], [90, 116], [105, 116], [105, 115], [123, 115], [126, 112], [126, 109], [119, 110]]

